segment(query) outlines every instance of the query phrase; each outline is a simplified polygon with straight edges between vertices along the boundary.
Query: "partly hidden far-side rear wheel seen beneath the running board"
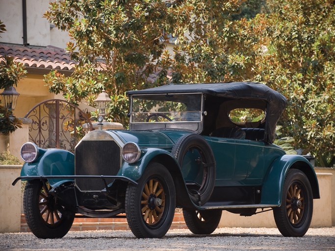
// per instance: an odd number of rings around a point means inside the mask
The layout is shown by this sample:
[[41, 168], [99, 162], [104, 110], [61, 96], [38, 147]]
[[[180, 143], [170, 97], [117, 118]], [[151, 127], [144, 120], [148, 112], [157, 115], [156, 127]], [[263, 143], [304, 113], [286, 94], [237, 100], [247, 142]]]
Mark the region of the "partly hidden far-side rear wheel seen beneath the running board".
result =
[[186, 226], [194, 234], [211, 234], [219, 226], [222, 210], [186, 210], [182, 209]]

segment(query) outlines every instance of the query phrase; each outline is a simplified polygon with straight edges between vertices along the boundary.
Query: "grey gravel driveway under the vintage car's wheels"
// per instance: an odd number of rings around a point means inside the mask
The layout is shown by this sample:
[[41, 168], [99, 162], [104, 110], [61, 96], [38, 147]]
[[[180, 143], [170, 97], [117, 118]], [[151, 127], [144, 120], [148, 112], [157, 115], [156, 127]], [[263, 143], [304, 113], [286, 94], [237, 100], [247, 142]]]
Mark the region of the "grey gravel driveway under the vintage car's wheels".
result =
[[283, 237], [277, 228], [218, 228], [196, 236], [187, 229], [172, 229], [162, 239], [136, 239], [130, 231], [69, 232], [62, 239], [38, 239], [31, 233], [0, 234], [0, 250], [291, 250], [335, 251], [335, 227], [310, 228], [302, 238]]

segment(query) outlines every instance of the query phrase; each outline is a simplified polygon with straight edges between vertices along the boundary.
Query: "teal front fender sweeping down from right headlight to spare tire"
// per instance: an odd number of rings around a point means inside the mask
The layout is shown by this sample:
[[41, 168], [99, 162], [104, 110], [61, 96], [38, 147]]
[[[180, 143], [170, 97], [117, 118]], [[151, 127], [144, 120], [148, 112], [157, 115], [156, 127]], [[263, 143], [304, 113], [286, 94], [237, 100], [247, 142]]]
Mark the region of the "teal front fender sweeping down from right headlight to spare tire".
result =
[[197, 207], [189, 198], [186, 184], [182, 177], [181, 168], [177, 160], [169, 151], [157, 148], [142, 150], [142, 157], [139, 161], [132, 164], [124, 162], [118, 176], [126, 176], [137, 181], [143, 175], [146, 167], [151, 161], [161, 163], [170, 172], [176, 188], [177, 207]]

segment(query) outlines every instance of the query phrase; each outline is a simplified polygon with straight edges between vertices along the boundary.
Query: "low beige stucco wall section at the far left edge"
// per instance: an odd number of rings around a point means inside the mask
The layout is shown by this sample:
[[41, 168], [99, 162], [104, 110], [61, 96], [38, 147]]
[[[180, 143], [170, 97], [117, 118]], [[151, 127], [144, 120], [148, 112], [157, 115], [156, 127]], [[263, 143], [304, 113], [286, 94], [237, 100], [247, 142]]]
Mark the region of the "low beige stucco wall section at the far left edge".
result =
[[20, 232], [21, 182], [12, 186], [20, 176], [22, 166], [0, 165], [0, 233]]

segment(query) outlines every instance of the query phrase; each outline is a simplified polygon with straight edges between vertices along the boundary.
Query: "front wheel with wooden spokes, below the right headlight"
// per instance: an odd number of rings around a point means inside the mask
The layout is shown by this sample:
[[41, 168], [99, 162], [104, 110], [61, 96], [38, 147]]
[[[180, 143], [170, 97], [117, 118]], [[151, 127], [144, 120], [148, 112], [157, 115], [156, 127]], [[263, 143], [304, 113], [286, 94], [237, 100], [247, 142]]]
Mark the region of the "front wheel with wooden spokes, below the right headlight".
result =
[[175, 208], [175, 185], [160, 163], [150, 163], [138, 185], [129, 183], [127, 187], [126, 217], [137, 238], [163, 237], [172, 224]]

